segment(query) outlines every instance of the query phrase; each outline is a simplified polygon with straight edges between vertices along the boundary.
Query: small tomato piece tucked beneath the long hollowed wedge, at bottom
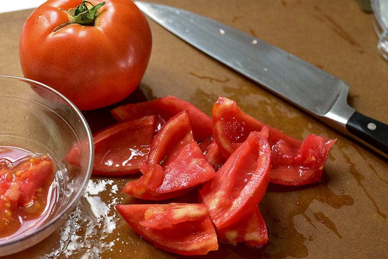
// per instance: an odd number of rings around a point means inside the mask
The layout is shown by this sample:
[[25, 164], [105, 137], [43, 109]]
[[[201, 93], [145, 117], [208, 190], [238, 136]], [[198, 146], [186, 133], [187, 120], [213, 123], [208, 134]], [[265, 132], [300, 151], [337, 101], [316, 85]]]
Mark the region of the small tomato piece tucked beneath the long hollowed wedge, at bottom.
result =
[[244, 243], [249, 246], [262, 246], [268, 242], [267, 225], [259, 207], [240, 221], [225, 229], [216, 229], [218, 241], [226, 244]]

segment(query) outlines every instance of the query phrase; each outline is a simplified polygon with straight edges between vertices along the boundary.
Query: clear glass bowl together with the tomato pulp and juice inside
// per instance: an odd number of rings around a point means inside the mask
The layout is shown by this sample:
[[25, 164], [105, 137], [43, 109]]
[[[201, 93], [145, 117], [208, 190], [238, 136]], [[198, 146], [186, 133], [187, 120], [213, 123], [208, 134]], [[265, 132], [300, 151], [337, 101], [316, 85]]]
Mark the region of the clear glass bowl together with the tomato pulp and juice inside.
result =
[[[0, 76], [0, 122], [0, 255], [5, 256], [37, 244], [62, 225], [90, 179], [94, 147], [79, 109], [58, 91], [26, 78]], [[80, 149], [77, 167], [65, 161], [75, 144]], [[46, 171], [52, 174], [46, 176]], [[17, 195], [10, 195], [15, 192], [8, 189], [22, 178], [21, 172], [31, 179], [16, 184]], [[31, 191], [38, 178], [43, 185]], [[31, 206], [23, 201], [28, 192], [34, 197]], [[40, 206], [38, 215], [26, 217], [26, 210]], [[8, 226], [17, 213], [16, 227]]]

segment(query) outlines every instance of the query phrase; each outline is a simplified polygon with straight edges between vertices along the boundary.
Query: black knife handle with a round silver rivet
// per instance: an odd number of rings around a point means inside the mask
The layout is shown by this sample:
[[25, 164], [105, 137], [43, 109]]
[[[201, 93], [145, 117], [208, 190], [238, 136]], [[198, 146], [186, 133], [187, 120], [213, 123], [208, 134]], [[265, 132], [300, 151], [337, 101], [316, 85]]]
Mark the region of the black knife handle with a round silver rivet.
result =
[[388, 125], [357, 111], [346, 123], [348, 132], [388, 158]]

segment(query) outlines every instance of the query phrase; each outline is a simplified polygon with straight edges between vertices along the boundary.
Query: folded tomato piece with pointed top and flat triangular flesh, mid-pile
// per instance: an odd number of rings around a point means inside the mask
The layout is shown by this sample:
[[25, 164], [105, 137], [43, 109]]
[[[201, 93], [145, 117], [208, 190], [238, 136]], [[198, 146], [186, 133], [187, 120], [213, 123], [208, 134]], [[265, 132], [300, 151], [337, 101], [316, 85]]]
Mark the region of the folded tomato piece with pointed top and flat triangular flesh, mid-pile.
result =
[[147, 159], [140, 162], [139, 168], [143, 176], [127, 183], [123, 190], [137, 198], [144, 198], [152, 192], [176, 193], [190, 189], [210, 180], [215, 174], [194, 141], [186, 110], [162, 126], [152, 141]]

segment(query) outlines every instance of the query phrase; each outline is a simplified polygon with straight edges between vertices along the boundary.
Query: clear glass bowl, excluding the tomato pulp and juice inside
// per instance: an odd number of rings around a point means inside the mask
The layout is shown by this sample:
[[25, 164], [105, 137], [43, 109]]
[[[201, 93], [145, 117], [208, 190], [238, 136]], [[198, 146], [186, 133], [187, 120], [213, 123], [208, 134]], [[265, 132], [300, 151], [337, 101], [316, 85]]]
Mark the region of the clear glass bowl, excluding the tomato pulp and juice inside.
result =
[[[94, 146], [80, 110], [60, 92], [30, 79], [0, 76], [0, 122], [0, 147], [49, 154], [56, 164], [55, 199], [46, 207], [46, 218], [21, 235], [0, 237], [0, 255], [5, 256], [37, 244], [64, 223], [91, 177]], [[64, 159], [75, 144], [79, 167]]]

